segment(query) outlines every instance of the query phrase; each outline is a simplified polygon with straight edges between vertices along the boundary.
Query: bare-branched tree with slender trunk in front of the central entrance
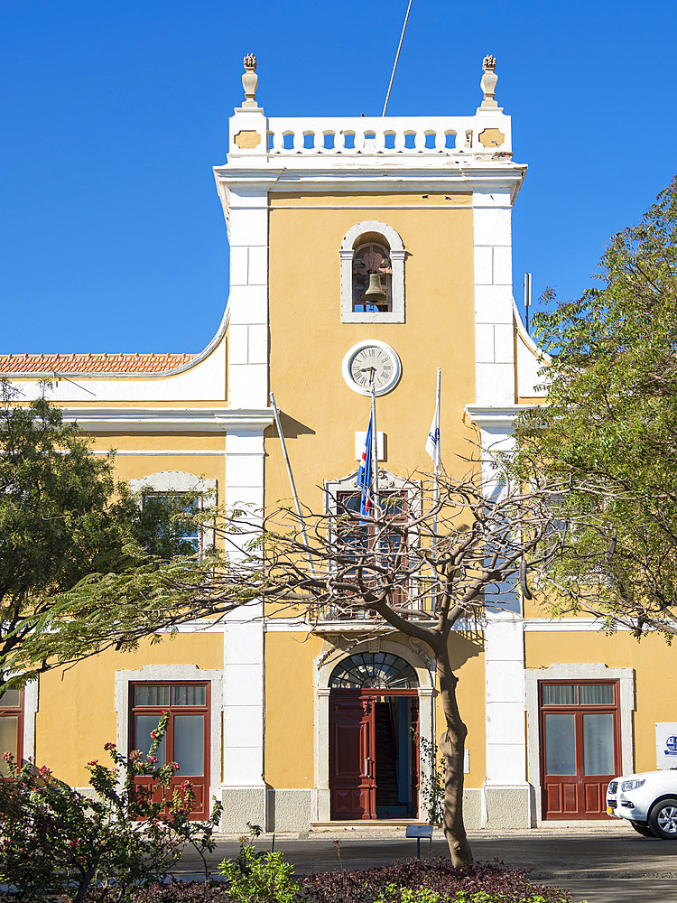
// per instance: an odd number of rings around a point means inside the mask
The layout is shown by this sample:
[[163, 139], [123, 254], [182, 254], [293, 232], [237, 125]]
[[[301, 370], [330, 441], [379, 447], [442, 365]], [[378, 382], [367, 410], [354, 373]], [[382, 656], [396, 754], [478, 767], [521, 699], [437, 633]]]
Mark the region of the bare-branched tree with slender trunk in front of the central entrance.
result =
[[481, 622], [488, 594], [512, 593], [520, 582], [528, 593], [527, 569], [543, 567], [557, 552], [554, 502], [566, 489], [558, 482], [515, 490], [505, 477], [494, 485], [487, 494], [479, 478], [443, 476], [433, 500], [430, 479], [409, 479], [382, 494], [369, 516], [350, 498], [333, 498], [333, 512], [304, 516], [305, 536], [288, 510], [264, 522], [266, 593], [301, 605], [313, 623], [368, 615], [430, 648], [446, 723], [444, 833], [455, 864], [472, 854], [462, 815], [468, 731], [450, 634], [464, 620]]

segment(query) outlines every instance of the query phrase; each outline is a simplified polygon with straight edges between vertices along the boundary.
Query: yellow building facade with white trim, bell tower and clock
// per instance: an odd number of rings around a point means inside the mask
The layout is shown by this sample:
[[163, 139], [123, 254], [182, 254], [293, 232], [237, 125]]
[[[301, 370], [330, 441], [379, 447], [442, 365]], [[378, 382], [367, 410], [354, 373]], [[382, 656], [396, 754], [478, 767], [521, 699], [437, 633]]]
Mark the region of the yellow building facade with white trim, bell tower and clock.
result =
[[[494, 97], [495, 61], [484, 69], [468, 116], [285, 118], [258, 105], [246, 58], [246, 99], [214, 170], [230, 293], [208, 348], [5, 355], [0, 371], [26, 396], [50, 378], [65, 417], [95, 438], [95, 454], [116, 449], [117, 475], [135, 490], [197, 491], [205, 504], [270, 509], [290, 498], [271, 392], [303, 503], [320, 511], [354, 491], [369, 398], [351, 362], [369, 349], [387, 363], [384, 487], [431, 469], [438, 367], [448, 470], [468, 442], [509, 448], [515, 416], [543, 400], [541, 364], [512, 293], [511, 212], [526, 167]], [[371, 275], [380, 294], [365, 301]], [[654, 767], [657, 675], [664, 688], [671, 673], [660, 640], [607, 638], [592, 619], [552, 621], [506, 593], [478, 632], [455, 633], [451, 654], [468, 725], [469, 827], [603, 818], [608, 777]], [[23, 758], [76, 787], [105, 742], [143, 747], [169, 707], [167, 759], [189, 763], [198, 814], [223, 801], [226, 831], [424, 819], [429, 765], [411, 729], [434, 740], [443, 724], [420, 644], [374, 620], [311, 625], [268, 617], [260, 603], [44, 675], [20, 707]], [[365, 802], [356, 787], [369, 781]]]

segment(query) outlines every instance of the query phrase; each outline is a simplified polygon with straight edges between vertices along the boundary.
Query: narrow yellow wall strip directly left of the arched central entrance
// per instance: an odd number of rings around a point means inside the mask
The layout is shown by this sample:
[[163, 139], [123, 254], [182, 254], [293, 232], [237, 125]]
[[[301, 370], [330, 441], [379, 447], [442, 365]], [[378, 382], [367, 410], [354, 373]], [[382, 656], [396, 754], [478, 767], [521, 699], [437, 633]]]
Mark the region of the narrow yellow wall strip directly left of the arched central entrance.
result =
[[322, 640], [306, 633], [265, 635], [266, 782], [313, 787], [315, 712], [312, 663]]

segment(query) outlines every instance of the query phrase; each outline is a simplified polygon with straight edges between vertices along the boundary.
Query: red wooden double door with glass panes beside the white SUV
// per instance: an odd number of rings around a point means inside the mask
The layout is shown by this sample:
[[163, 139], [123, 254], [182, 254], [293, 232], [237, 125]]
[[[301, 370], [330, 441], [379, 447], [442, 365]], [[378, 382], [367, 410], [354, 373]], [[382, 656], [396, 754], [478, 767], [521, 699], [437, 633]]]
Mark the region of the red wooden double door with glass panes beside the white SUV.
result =
[[544, 684], [543, 817], [607, 818], [607, 785], [619, 770], [619, 747], [617, 684]]

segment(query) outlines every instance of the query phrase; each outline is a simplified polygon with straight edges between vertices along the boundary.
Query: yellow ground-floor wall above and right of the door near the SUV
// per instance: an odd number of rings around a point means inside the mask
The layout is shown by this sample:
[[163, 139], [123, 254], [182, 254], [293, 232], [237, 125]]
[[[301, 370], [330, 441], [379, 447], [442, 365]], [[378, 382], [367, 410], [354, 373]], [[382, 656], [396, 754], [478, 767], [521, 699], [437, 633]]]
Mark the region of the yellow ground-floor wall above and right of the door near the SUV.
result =
[[587, 631], [529, 631], [525, 635], [525, 647], [527, 668], [546, 668], [561, 662], [592, 662], [609, 668], [634, 668], [635, 770], [655, 770], [654, 723], [673, 721], [677, 708], [673, 648], [655, 636], [645, 637], [638, 643], [627, 631], [619, 631], [610, 637]]

